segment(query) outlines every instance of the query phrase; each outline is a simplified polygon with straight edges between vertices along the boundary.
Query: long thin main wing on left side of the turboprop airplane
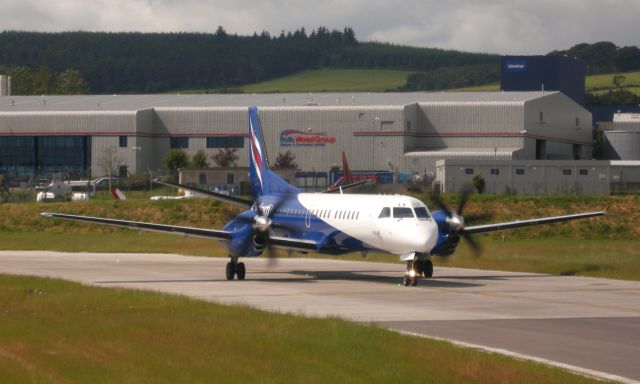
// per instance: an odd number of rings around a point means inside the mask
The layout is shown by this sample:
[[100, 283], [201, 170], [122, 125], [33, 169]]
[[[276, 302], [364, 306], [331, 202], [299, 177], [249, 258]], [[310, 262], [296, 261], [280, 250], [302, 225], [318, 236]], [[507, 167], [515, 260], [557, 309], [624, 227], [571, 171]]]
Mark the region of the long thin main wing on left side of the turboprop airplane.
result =
[[207, 239], [231, 240], [231, 232], [216, 229], [202, 229], [193, 227], [181, 227], [177, 225], [144, 223], [141, 221], [129, 221], [118, 219], [107, 219], [104, 217], [68, 215], [66, 213], [43, 212], [44, 217], [53, 217], [58, 219], [84, 221], [95, 224], [113, 225], [116, 227], [124, 227], [129, 229], [140, 229], [144, 231], [173, 233], [176, 235], [203, 237]]

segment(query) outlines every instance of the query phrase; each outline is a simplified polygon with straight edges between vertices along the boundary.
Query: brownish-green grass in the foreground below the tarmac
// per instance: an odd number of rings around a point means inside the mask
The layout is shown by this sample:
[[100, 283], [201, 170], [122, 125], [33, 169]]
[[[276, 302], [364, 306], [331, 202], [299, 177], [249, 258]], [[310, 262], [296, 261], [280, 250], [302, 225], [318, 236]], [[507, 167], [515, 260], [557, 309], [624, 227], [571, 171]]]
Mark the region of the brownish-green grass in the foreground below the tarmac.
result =
[[3, 383], [584, 383], [541, 364], [178, 296], [0, 275]]

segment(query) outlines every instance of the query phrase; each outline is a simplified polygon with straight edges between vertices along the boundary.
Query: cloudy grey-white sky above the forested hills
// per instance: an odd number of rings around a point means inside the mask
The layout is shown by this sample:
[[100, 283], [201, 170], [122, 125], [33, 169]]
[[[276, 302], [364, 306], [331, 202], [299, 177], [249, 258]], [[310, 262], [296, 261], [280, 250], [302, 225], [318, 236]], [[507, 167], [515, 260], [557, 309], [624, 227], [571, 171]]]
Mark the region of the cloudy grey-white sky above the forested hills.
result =
[[640, 0], [2, 0], [0, 28], [240, 35], [350, 26], [359, 41], [499, 54], [640, 45]]

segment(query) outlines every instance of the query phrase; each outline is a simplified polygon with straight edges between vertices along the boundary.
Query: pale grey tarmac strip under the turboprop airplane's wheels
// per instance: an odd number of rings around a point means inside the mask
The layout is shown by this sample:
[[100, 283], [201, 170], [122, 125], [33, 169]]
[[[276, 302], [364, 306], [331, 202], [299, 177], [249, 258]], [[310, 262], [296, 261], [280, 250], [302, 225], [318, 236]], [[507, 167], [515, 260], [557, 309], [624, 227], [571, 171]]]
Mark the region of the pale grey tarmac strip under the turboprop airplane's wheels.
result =
[[247, 280], [229, 282], [224, 258], [0, 251], [0, 273], [339, 316], [640, 381], [640, 282], [436, 268], [434, 278], [410, 288], [401, 285], [401, 263], [243, 261]]

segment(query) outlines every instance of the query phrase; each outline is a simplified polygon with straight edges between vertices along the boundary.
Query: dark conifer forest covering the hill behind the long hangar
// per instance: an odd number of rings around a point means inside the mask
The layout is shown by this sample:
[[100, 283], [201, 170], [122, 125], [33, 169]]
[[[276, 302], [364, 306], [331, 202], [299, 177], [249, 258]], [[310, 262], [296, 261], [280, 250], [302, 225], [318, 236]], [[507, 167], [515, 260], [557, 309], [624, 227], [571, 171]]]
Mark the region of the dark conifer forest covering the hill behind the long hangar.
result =
[[428, 72], [498, 63], [497, 55], [361, 43], [351, 28], [278, 36], [231, 35], [222, 27], [214, 34], [0, 33], [0, 66], [9, 71], [46, 67], [56, 74], [74, 69], [92, 93], [233, 88], [317, 68]]

